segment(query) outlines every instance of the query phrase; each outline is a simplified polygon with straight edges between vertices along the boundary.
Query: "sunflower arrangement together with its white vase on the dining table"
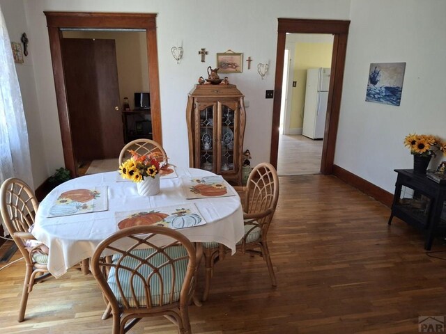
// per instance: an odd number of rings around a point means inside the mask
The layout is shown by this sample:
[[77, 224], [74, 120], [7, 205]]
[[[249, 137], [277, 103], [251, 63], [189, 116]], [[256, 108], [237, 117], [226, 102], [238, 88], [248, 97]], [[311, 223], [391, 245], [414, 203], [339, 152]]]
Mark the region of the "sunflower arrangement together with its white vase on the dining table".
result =
[[157, 154], [139, 154], [129, 150], [132, 157], [123, 161], [119, 173], [124, 179], [136, 182], [139, 195], [152, 196], [160, 192], [160, 161]]

